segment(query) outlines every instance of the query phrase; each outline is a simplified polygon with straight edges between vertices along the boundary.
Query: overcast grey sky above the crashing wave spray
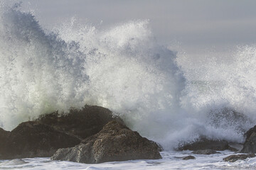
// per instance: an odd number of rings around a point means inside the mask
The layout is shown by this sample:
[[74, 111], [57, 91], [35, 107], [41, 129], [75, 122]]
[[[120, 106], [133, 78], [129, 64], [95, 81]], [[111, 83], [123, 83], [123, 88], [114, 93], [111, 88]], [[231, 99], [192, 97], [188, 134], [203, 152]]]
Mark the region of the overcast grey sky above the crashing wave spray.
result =
[[23, 0], [23, 8], [48, 27], [73, 16], [103, 27], [149, 19], [159, 42], [193, 55], [256, 42], [255, 0]]

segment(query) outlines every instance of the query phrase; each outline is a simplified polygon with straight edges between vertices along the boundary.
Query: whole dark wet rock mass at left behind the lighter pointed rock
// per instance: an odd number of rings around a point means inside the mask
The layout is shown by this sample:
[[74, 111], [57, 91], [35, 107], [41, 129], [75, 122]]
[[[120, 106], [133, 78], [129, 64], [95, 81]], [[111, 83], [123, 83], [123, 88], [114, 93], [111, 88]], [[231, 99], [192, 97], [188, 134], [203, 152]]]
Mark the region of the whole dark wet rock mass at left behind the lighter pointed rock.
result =
[[21, 123], [8, 132], [0, 128], [0, 159], [51, 157], [59, 148], [74, 147], [88, 136], [95, 135], [114, 118], [107, 108], [85, 106], [42, 115], [35, 121]]

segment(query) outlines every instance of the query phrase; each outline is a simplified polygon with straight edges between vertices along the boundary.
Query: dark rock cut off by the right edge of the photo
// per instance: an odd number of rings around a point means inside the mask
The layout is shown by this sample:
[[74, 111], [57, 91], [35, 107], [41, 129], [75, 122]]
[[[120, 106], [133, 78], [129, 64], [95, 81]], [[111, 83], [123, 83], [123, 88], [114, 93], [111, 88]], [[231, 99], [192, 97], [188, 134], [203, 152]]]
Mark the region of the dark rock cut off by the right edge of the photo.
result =
[[250, 130], [245, 133], [245, 136], [245, 143], [240, 152], [248, 154], [256, 153], [256, 125], [250, 128]]

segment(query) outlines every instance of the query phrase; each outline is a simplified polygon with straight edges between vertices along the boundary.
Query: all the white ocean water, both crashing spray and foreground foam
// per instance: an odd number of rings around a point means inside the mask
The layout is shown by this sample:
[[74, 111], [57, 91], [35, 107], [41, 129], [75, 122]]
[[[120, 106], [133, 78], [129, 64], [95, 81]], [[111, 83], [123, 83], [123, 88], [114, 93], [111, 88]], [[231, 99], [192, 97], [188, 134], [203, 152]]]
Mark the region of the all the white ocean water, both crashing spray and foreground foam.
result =
[[[19, 4], [0, 2], [0, 127], [85, 103], [110, 108], [129, 128], [159, 142], [164, 159], [99, 165], [24, 159], [1, 169], [242, 169], [255, 159], [221, 160], [228, 152], [176, 159], [182, 142], [201, 135], [243, 142], [256, 124], [256, 46], [232, 49], [229, 57], [196, 60], [159, 45], [149, 21], [99, 29], [75, 18], [46, 30]], [[242, 114], [237, 118], [232, 112]], [[189, 164], [188, 164], [189, 163]], [[14, 165], [13, 165], [14, 164]], [[60, 167], [61, 168], [60, 168]], [[181, 166], [181, 167], [180, 167]], [[240, 168], [238, 168], [240, 167]], [[184, 168], [185, 169], [185, 168]]]

